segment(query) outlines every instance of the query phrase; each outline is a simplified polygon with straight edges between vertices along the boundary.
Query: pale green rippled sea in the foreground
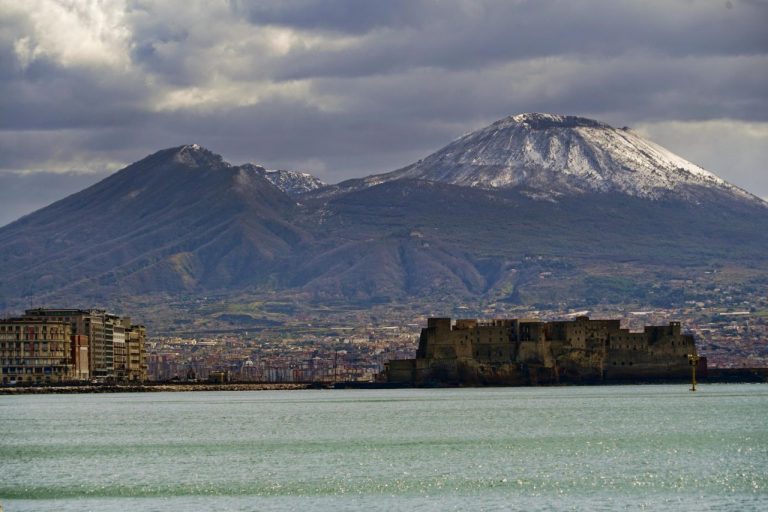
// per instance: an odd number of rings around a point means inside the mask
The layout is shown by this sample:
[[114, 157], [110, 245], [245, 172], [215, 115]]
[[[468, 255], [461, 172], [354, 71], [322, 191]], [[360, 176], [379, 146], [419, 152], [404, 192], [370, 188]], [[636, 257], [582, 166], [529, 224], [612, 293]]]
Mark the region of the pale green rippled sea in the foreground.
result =
[[0, 396], [16, 511], [768, 510], [768, 384]]

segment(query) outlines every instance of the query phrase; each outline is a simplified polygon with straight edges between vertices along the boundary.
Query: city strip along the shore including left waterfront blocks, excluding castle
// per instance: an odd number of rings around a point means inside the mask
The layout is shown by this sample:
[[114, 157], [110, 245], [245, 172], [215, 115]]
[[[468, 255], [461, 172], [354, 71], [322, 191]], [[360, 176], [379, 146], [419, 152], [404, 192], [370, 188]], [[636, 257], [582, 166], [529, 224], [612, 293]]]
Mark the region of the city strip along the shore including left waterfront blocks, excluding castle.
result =
[[[718, 293], [721, 292], [718, 290]], [[728, 290], [723, 294], [734, 293]], [[707, 303], [710, 302], [710, 303]], [[697, 340], [699, 353], [710, 367], [750, 368], [768, 366], [768, 299], [754, 295], [725, 295], [719, 304], [697, 301], [684, 307], [629, 310], [600, 306], [590, 310], [536, 310], [489, 304], [483, 308], [433, 305], [384, 307], [350, 311], [305, 310], [281, 315], [273, 325], [242, 327], [241, 318], [218, 317], [219, 323], [200, 328], [200, 334], [144, 333], [130, 318], [102, 310], [28, 310], [21, 317], [0, 321], [0, 361], [3, 384], [62, 381], [207, 381], [237, 382], [342, 382], [373, 381], [392, 359], [414, 357], [418, 334], [432, 311], [446, 311], [455, 318], [499, 318], [515, 314], [525, 318], [557, 320], [589, 314], [593, 318], [620, 318], [632, 330], [644, 325], [681, 321], [683, 330]], [[64, 317], [64, 314], [69, 316]], [[65, 321], [66, 319], [66, 321]], [[105, 335], [94, 332], [100, 319]], [[60, 325], [61, 324], [61, 325]], [[65, 325], [66, 324], [66, 325]], [[51, 329], [42, 336], [42, 325]], [[87, 326], [87, 327], [86, 327]], [[228, 326], [228, 327], [227, 327]], [[16, 333], [22, 334], [17, 344]], [[62, 329], [54, 335], [52, 327]], [[211, 327], [217, 327], [212, 329]], [[90, 342], [88, 333], [90, 329]], [[218, 331], [218, 332], [212, 332]], [[13, 337], [13, 341], [9, 336]], [[36, 336], [36, 337], [35, 337]], [[30, 355], [53, 354], [56, 336], [63, 344], [58, 356], [70, 357], [64, 365], [40, 359], [31, 366], [18, 364]], [[111, 338], [108, 338], [111, 336]], [[144, 338], [146, 336], [146, 339]], [[39, 339], [38, 339], [39, 338]], [[69, 338], [72, 341], [66, 341]], [[21, 343], [21, 341], [24, 343]], [[141, 342], [139, 342], [141, 340]], [[48, 342], [50, 341], [50, 346]], [[32, 343], [30, 343], [32, 342]], [[64, 346], [66, 345], [66, 346]], [[105, 348], [109, 346], [109, 348]], [[23, 353], [29, 350], [32, 353]], [[35, 354], [35, 349], [37, 353]], [[49, 357], [50, 359], [50, 357]]]

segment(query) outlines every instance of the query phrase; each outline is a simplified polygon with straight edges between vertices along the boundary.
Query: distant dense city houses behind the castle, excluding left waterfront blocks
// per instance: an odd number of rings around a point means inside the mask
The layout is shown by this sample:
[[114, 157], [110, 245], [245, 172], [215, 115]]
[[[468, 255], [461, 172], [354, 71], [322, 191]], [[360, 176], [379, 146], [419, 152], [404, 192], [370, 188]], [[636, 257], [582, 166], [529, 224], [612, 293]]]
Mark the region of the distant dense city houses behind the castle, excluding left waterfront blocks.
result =
[[[630, 313], [622, 322], [631, 329], [644, 324], [685, 318], [683, 329], [696, 337], [699, 353], [710, 366], [721, 368], [764, 367], [768, 351], [768, 322], [747, 311], [695, 312], [655, 310]], [[530, 311], [530, 317], [558, 319], [574, 312]], [[597, 316], [616, 312], [602, 310]], [[694, 311], [689, 311], [694, 313]], [[595, 315], [595, 313], [592, 313]], [[489, 317], [490, 318], [490, 317]], [[698, 320], [706, 322], [698, 323]], [[208, 379], [211, 372], [226, 372], [232, 380], [245, 382], [309, 382], [373, 380], [391, 359], [414, 357], [418, 333], [426, 317], [403, 326], [350, 328], [335, 335], [264, 332], [230, 333], [201, 337], [155, 337], [148, 342], [150, 380]], [[420, 322], [423, 320], [423, 322]], [[293, 327], [301, 332], [299, 326]]]

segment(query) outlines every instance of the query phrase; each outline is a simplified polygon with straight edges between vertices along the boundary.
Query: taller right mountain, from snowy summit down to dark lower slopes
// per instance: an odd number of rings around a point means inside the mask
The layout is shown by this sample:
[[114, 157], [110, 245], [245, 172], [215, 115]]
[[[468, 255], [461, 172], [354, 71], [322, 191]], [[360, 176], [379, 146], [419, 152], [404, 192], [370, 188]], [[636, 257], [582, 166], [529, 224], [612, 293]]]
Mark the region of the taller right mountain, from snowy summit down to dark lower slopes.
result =
[[754, 276], [768, 254], [762, 199], [626, 128], [572, 116], [511, 116], [302, 201], [348, 262], [301, 267], [293, 284], [318, 294], [663, 302], [671, 276], [709, 265]]

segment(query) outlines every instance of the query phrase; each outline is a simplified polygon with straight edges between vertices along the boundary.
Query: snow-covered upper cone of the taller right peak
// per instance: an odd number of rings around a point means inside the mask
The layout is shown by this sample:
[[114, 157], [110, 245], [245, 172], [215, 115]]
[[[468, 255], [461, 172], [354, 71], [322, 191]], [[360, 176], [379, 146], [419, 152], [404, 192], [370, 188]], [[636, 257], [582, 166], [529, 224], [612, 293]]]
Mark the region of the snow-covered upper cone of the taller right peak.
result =
[[762, 202], [627, 128], [538, 113], [501, 119], [415, 164], [364, 181], [373, 185], [393, 179], [519, 188], [531, 197], [550, 199], [621, 192], [648, 199], [674, 194], [695, 200], [694, 190], [705, 187]]

